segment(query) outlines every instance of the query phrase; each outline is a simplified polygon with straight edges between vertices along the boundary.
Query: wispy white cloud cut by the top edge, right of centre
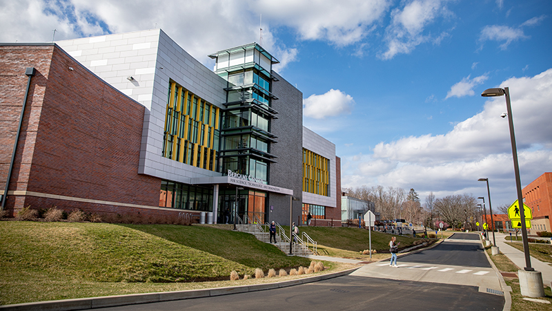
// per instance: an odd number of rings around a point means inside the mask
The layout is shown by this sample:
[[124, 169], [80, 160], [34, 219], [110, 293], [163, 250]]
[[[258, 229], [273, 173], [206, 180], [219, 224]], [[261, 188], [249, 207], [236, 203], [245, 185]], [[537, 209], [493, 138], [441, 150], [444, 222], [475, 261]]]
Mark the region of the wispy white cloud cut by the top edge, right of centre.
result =
[[392, 59], [397, 54], [408, 54], [418, 45], [432, 40], [439, 44], [447, 32], [442, 32], [433, 38], [424, 35], [424, 29], [433, 23], [437, 17], [449, 17], [451, 12], [441, 0], [408, 1], [402, 10], [396, 8], [391, 12], [391, 25], [386, 29], [385, 41], [387, 50], [380, 58]]

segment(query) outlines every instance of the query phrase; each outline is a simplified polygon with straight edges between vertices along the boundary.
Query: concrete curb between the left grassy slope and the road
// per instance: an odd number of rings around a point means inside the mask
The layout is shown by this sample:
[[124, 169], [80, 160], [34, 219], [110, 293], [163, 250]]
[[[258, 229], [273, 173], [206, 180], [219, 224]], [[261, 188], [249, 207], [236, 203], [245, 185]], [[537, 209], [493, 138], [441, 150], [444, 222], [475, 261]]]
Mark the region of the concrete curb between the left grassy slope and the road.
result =
[[313, 283], [327, 279], [333, 279], [338, 276], [351, 274], [359, 269], [344, 270], [335, 273], [328, 273], [319, 276], [311, 276], [304, 279], [295, 279], [276, 283], [266, 283], [257, 285], [242, 285], [228, 288], [211, 288], [206, 290], [183, 290], [179, 292], [156, 292], [147, 294], [129, 294], [120, 296], [103, 296], [81, 299], [66, 299], [57, 301], [39, 301], [34, 303], [18, 303], [14, 305], [0, 305], [0, 310], [19, 311], [19, 310], [88, 310], [95, 308], [117, 307], [120, 305], [135, 305], [139, 303], [156, 303], [162, 301], [175, 301], [184, 299], [193, 299], [201, 297], [221, 296], [228, 294], [239, 294], [242, 292], [257, 292], [259, 290], [273, 290], [276, 288], [287, 288], [289, 286]]

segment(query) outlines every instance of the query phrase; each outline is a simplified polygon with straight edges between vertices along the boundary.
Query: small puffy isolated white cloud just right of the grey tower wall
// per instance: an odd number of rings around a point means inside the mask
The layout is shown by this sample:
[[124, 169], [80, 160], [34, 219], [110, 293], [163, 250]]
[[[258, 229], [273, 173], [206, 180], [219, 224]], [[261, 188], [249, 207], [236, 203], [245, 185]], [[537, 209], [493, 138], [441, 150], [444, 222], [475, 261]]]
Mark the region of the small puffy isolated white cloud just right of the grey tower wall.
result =
[[303, 115], [315, 119], [324, 119], [344, 113], [351, 113], [355, 101], [347, 95], [333, 88], [322, 95], [311, 95], [303, 100]]

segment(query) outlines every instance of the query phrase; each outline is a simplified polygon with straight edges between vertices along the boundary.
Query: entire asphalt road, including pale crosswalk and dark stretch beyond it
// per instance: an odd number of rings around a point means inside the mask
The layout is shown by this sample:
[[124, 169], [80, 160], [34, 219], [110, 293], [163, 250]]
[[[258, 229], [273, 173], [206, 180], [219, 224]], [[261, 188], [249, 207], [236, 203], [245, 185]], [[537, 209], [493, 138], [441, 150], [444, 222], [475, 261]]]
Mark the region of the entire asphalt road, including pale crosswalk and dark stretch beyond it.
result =
[[497, 276], [484, 263], [478, 238], [455, 234], [400, 257], [399, 268], [372, 263], [348, 276], [288, 288], [101, 310], [502, 310], [504, 296], [484, 292]]

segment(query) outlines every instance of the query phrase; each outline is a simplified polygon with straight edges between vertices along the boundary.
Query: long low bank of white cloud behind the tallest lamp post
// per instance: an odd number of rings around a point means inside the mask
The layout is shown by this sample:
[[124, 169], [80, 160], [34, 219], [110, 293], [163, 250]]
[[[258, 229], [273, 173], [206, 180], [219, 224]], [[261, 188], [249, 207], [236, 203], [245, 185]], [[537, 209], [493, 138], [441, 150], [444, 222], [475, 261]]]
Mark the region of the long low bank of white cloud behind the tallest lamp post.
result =
[[[534, 77], [512, 77], [509, 87], [522, 186], [552, 167], [552, 68]], [[484, 109], [449, 132], [380, 142], [371, 156], [342, 158], [343, 187], [383, 185], [414, 188], [420, 195], [486, 194], [495, 204], [515, 199], [512, 151], [504, 97], [481, 98]]]

